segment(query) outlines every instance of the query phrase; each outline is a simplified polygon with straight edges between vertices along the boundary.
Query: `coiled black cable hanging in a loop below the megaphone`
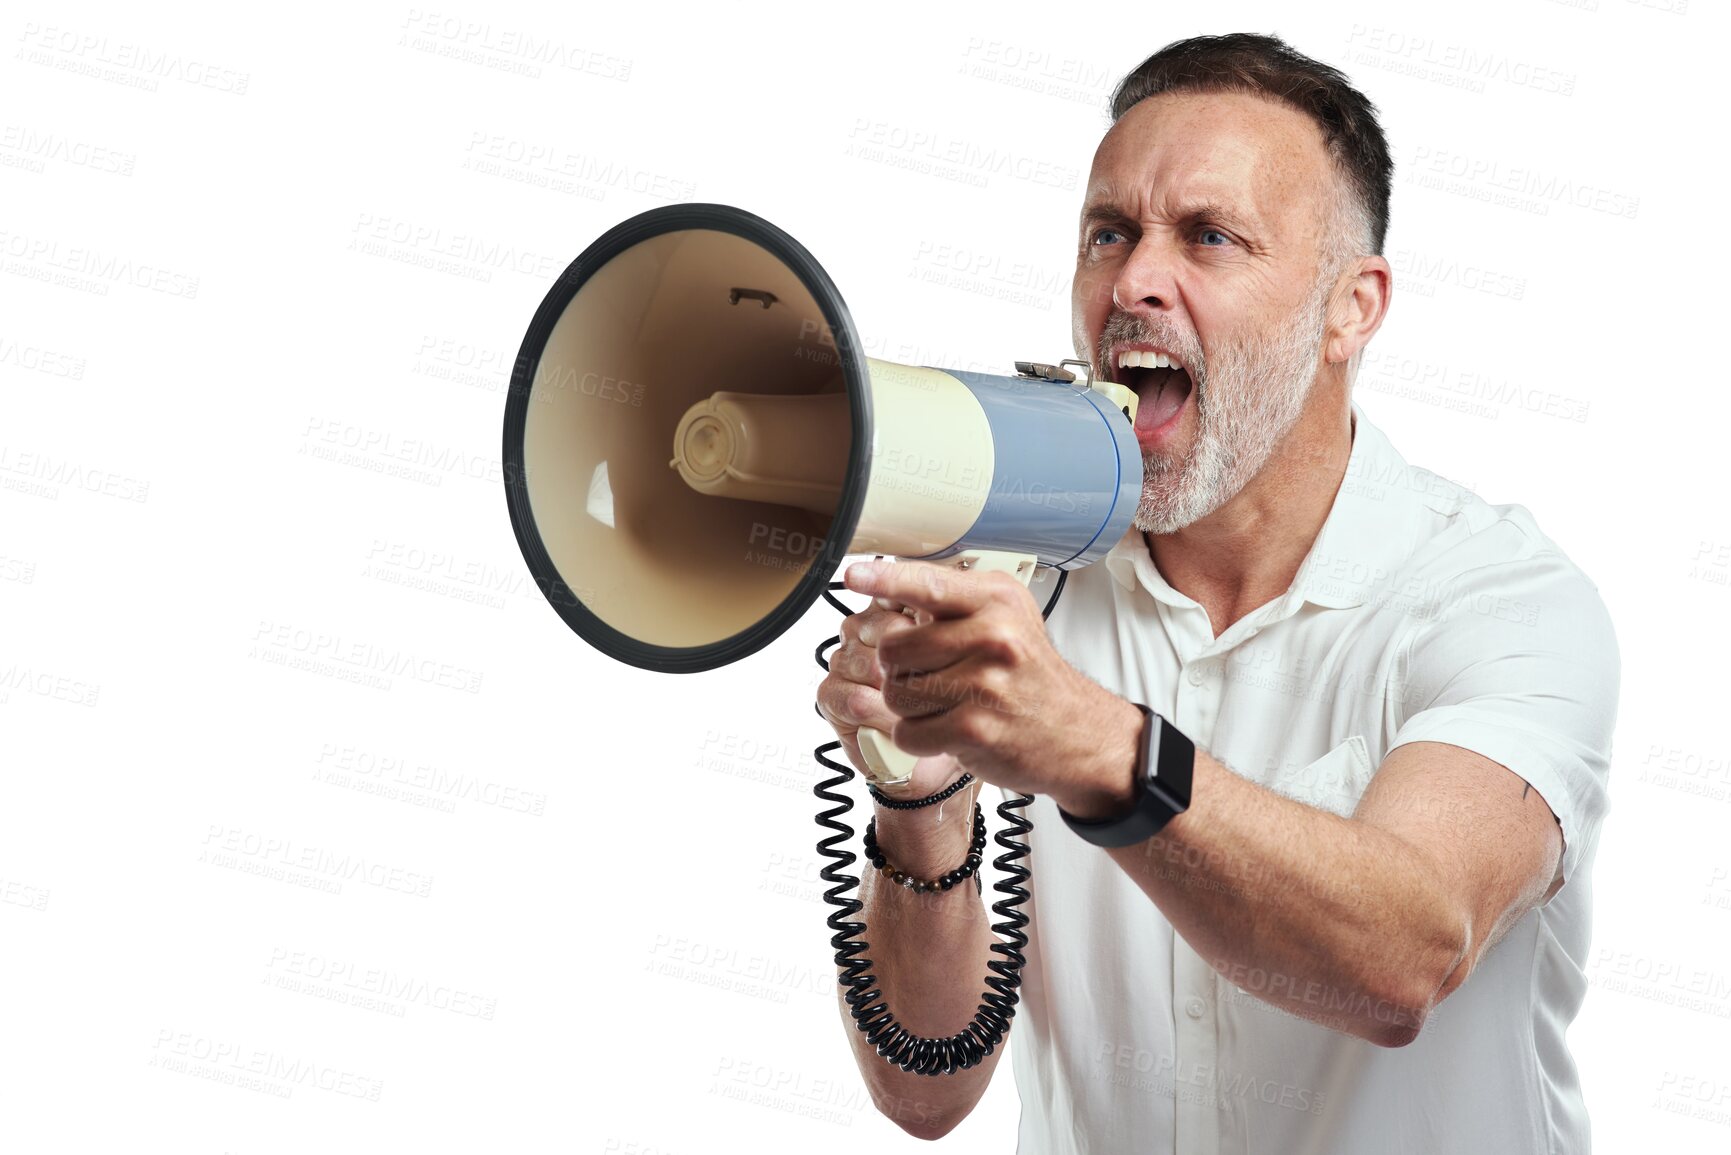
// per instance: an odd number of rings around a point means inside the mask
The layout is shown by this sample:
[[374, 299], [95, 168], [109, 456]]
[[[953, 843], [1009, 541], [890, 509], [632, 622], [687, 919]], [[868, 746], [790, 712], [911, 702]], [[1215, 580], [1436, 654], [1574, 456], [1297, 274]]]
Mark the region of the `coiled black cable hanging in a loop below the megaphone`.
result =
[[[1065, 580], [1068, 577], [1068, 571], [1058, 571], [1058, 585], [1052, 589], [1046, 610], [1040, 611], [1040, 618], [1051, 616], [1052, 608], [1058, 604], [1058, 596], [1065, 592]], [[838, 589], [845, 589], [845, 584], [831, 582], [824, 590], [824, 601], [840, 610], [841, 616], [852, 616], [855, 611], [831, 592]], [[824, 653], [840, 641], [841, 636], [836, 634], [817, 646], [817, 665], [824, 667], [826, 672], [829, 670], [829, 661]], [[872, 1044], [879, 1056], [909, 1074], [950, 1075], [957, 1070], [976, 1067], [1004, 1042], [1004, 1036], [1009, 1032], [1009, 1020], [1014, 1018], [1016, 1003], [1021, 999], [1021, 968], [1026, 961], [1021, 949], [1028, 945], [1028, 937], [1021, 933], [1021, 928], [1028, 925], [1028, 916], [1016, 907], [1028, 900], [1028, 892], [1020, 883], [1026, 881], [1030, 873], [1020, 864], [1020, 859], [1028, 857], [1028, 843], [1021, 836], [1033, 829], [1033, 823], [1025, 819], [1020, 810], [1033, 802], [1033, 798], [1030, 795], [1011, 793], [997, 807], [999, 817], [1004, 819], [1007, 829], [1001, 829], [995, 838], [1006, 854], [992, 861], [992, 866], [1002, 871], [1002, 878], [994, 883], [994, 888], [1006, 897], [992, 904], [992, 913], [1004, 919], [994, 923], [992, 930], [1009, 942], [992, 944], [992, 952], [1002, 958], [987, 963], [987, 970], [992, 973], [987, 975], [985, 985], [990, 990], [980, 994], [980, 1008], [968, 1027], [947, 1039], [924, 1039], [897, 1022], [883, 1001], [883, 994], [878, 990], [878, 977], [872, 975], [871, 959], [866, 958], [871, 944], [859, 937], [866, 930], [866, 923], [845, 921], [859, 914], [864, 904], [855, 897], [845, 897], [848, 890], [859, 887], [860, 880], [853, 874], [840, 873], [855, 861], [852, 850], [840, 849], [840, 843], [853, 838], [853, 828], [840, 821], [841, 816], [853, 809], [853, 800], [834, 788], [850, 783], [855, 771], [846, 762], [826, 757], [836, 750], [841, 750], [840, 741], [824, 743], [812, 752], [812, 757], [820, 765], [836, 772], [834, 778], [817, 783], [812, 790], [824, 802], [834, 803], [834, 809], [817, 814], [817, 824], [834, 831], [817, 843], [817, 852], [833, 859], [817, 876], [831, 883], [829, 890], [824, 892], [824, 900], [838, 907], [829, 914], [826, 925], [836, 932], [831, 935], [829, 945], [836, 949], [836, 966], [841, 968], [836, 982], [841, 985], [841, 997], [848, 1004], [853, 1025], [866, 1034], [866, 1041]]]

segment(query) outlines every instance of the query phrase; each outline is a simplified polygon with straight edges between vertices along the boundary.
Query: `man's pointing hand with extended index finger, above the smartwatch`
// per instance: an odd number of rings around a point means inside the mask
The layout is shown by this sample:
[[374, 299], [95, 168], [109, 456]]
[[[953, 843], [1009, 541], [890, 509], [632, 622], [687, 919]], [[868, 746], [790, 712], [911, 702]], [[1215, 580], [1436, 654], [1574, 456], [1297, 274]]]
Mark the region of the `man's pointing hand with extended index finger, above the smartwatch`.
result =
[[848, 566], [846, 585], [917, 611], [876, 630], [897, 746], [956, 755], [983, 781], [1051, 795], [1066, 810], [1073, 802], [1075, 814], [1132, 797], [1141, 712], [1063, 660], [1016, 578], [866, 561]]

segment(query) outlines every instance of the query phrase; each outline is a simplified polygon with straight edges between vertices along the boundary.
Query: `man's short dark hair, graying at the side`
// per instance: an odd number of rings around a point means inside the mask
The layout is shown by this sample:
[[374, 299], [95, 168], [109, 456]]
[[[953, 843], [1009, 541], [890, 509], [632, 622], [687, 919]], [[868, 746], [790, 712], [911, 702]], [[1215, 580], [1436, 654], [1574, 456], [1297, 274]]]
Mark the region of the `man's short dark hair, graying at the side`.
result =
[[1111, 123], [1162, 92], [1248, 92], [1307, 114], [1322, 130], [1335, 161], [1336, 220], [1355, 234], [1333, 237], [1336, 251], [1326, 258], [1347, 258], [1342, 246], [1359, 253], [1383, 251], [1395, 163], [1376, 121], [1376, 106], [1338, 69], [1297, 52], [1279, 36], [1231, 33], [1175, 40], [1118, 81], [1111, 94]]

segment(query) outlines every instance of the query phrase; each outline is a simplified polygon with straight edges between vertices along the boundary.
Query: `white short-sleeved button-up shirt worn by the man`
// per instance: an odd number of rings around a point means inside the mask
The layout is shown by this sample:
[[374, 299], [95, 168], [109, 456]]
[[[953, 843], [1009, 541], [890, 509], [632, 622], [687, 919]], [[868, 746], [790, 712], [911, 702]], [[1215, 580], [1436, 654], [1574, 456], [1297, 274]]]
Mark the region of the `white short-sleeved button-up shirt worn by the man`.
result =
[[1132, 530], [1070, 577], [1051, 636], [1238, 774], [1335, 814], [1354, 812], [1395, 746], [1482, 753], [1556, 814], [1567, 881], [1414, 1042], [1380, 1048], [1276, 1010], [1253, 966], [1217, 973], [1037, 797], [1011, 1036], [1021, 1155], [1589, 1148], [1565, 1030], [1587, 989], [1617, 710], [1612, 623], [1523, 507], [1409, 466], [1357, 403], [1352, 414], [1345, 480], [1283, 596], [1215, 637]]

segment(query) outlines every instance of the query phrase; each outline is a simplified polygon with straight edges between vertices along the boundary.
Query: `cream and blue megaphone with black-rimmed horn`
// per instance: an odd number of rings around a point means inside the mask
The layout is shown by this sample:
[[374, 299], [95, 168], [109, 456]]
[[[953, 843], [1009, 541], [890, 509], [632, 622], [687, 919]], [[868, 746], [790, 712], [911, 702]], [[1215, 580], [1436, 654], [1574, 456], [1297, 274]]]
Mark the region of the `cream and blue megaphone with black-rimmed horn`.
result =
[[[1085, 362], [1016, 369], [866, 357], [786, 232], [725, 204], [651, 210], [583, 249], [530, 322], [505, 403], [511, 525], [583, 641], [670, 674], [772, 642], [846, 554], [1073, 570], [1141, 499], [1136, 395]], [[860, 748], [881, 786], [907, 781], [888, 736]]]

